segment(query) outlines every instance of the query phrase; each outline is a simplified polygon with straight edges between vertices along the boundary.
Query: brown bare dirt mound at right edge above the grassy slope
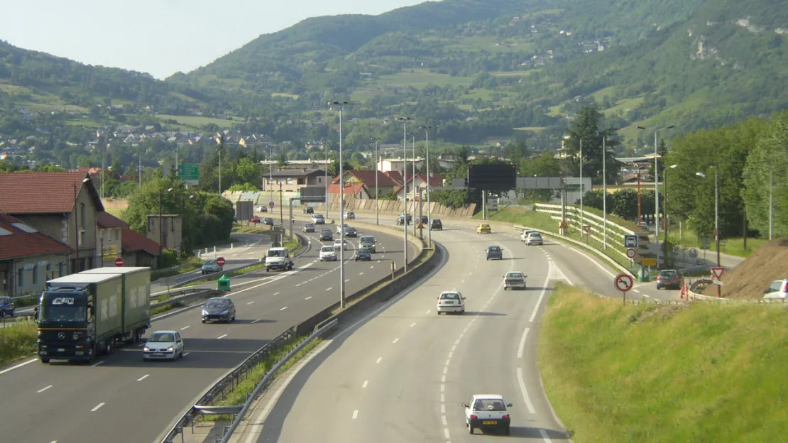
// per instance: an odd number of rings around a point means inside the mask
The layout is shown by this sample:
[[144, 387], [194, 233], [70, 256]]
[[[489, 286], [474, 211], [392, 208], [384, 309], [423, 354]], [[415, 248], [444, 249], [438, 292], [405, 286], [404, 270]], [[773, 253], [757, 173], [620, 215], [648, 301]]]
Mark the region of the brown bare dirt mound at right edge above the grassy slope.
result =
[[[788, 238], [771, 240], [745, 261], [723, 274], [723, 297], [760, 299], [772, 281], [788, 276]], [[716, 296], [717, 286], [708, 285], [704, 296]]]

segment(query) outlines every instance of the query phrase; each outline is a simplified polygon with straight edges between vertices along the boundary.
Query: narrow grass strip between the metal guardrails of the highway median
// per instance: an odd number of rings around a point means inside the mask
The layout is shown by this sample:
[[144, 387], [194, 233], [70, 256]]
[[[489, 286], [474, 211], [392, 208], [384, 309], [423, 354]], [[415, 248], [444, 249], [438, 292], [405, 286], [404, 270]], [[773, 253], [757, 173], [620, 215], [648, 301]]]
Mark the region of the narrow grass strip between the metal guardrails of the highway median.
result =
[[[297, 337], [291, 343], [285, 344], [283, 347], [277, 349], [274, 352], [264, 359], [262, 362], [258, 363], [249, 373], [247, 378], [245, 378], [242, 382], [236, 385], [235, 389], [232, 389], [232, 392], [227, 394], [225, 400], [221, 400], [216, 404], [216, 406], [234, 406], [237, 404], [244, 404], [246, 403], [246, 398], [249, 394], [254, 392], [255, 386], [262, 380], [262, 377], [271, 370], [277, 362], [284, 358], [284, 356], [288, 355], [288, 352], [291, 352], [295, 349], [299, 344], [303, 343], [307, 339], [307, 336]], [[277, 374], [275, 377], [278, 377], [282, 374], [285, 370], [290, 369], [293, 365], [298, 363], [299, 359], [302, 359], [303, 356], [306, 356], [312, 349], [314, 349], [318, 344], [322, 342], [322, 338], [316, 338], [313, 341], [310, 341], [309, 344], [303, 347], [299, 352], [296, 352], [296, 355], [292, 356], [292, 359], [288, 360], [288, 363], [284, 363], [279, 370], [277, 370]], [[221, 420], [231, 420], [232, 417], [229, 415], [206, 415], [206, 421], [221, 421]]]

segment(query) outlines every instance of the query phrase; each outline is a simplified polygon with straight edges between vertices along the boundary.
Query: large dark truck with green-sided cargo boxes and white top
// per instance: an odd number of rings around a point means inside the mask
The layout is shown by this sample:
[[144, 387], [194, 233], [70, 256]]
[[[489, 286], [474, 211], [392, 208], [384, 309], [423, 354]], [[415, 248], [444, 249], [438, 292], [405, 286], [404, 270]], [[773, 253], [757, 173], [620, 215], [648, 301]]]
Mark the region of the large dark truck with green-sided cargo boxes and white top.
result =
[[87, 270], [46, 282], [39, 300], [38, 354], [89, 362], [151, 327], [151, 268]]

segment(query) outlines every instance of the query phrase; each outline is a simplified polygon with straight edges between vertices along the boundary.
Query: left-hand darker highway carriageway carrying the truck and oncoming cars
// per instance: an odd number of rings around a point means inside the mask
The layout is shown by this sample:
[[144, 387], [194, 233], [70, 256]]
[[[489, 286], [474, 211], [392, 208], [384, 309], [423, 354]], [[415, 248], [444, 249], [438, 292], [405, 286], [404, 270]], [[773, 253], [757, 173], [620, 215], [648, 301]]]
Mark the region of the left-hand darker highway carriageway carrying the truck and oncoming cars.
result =
[[[347, 294], [390, 273], [389, 257], [402, 256], [401, 238], [367, 232], [378, 240], [378, 252], [373, 262], [355, 262], [354, 249], [348, 249]], [[295, 270], [258, 271], [245, 277], [240, 289], [234, 286], [230, 297], [237, 307], [235, 323], [202, 324], [194, 308], [155, 321], [154, 330], [181, 331], [183, 360], [144, 363], [140, 346], [119, 348], [90, 366], [28, 359], [0, 368], [0, 408], [9, 423], [2, 440], [153, 441], [204, 389], [251, 352], [338, 300], [338, 263], [320, 262], [319, 248], [314, 247], [319, 244], [317, 234], [307, 236], [313, 248], [296, 259]]]

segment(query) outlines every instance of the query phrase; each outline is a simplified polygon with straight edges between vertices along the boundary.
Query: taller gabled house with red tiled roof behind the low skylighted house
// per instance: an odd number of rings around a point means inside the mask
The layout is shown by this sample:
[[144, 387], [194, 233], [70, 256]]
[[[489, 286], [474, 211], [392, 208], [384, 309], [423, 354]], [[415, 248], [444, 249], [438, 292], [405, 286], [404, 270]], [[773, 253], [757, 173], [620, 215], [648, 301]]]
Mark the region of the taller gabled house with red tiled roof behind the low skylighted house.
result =
[[87, 173], [0, 173], [0, 212], [74, 250], [66, 274], [98, 263], [96, 213], [103, 210]]

